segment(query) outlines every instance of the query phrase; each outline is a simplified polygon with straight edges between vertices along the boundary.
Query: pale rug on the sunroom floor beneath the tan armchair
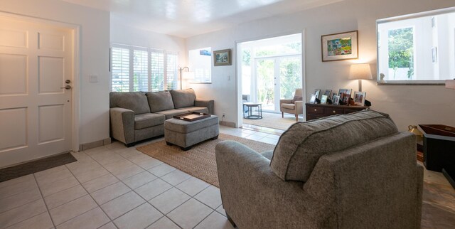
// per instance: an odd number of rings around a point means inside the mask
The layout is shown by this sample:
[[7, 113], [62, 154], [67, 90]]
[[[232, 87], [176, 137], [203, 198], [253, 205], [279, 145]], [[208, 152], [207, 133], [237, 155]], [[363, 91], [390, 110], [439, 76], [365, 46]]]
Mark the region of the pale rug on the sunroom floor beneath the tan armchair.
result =
[[[284, 114], [284, 118], [282, 118], [282, 114], [262, 112], [262, 117], [262, 119], [243, 119], [243, 123], [282, 130], [287, 130], [291, 124], [296, 123], [294, 115]], [[303, 121], [301, 115], [299, 115], [299, 121]]]

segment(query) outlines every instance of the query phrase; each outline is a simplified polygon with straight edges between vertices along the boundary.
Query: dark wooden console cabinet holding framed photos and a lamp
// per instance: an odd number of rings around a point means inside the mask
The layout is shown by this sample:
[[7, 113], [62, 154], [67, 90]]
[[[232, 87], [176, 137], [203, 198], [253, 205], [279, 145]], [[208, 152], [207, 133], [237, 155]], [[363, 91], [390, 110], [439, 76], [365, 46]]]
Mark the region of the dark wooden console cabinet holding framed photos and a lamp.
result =
[[319, 119], [321, 117], [327, 117], [331, 115], [342, 115], [349, 114], [352, 112], [358, 112], [365, 110], [370, 107], [362, 106], [346, 106], [346, 105], [326, 105], [316, 103], [306, 103], [306, 121], [311, 119]]

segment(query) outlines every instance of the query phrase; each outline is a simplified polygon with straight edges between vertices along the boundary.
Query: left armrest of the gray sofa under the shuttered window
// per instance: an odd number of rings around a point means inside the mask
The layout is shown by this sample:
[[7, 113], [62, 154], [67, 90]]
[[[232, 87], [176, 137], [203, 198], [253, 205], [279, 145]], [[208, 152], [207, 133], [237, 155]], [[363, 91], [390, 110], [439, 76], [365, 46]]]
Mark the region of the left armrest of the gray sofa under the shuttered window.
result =
[[111, 107], [109, 112], [112, 137], [124, 144], [135, 142], [134, 112], [120, 107]]

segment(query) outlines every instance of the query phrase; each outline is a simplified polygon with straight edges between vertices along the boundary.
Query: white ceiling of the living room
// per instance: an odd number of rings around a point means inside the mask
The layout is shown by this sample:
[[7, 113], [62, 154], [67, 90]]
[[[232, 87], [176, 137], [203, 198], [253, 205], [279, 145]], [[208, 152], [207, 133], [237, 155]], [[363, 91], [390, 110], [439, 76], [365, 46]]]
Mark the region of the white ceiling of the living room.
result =
[[111, 23], [188, 38], [343, 0], [62, 0], [111, 12]]

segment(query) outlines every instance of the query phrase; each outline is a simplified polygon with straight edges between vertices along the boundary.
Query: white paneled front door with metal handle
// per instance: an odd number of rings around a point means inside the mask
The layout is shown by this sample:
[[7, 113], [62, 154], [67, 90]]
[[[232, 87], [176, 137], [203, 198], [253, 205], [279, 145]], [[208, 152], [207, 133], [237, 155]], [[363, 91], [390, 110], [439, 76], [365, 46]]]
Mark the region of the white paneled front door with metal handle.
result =
[[0, 168], [70, 151], [73, 33], [0, 16]]

